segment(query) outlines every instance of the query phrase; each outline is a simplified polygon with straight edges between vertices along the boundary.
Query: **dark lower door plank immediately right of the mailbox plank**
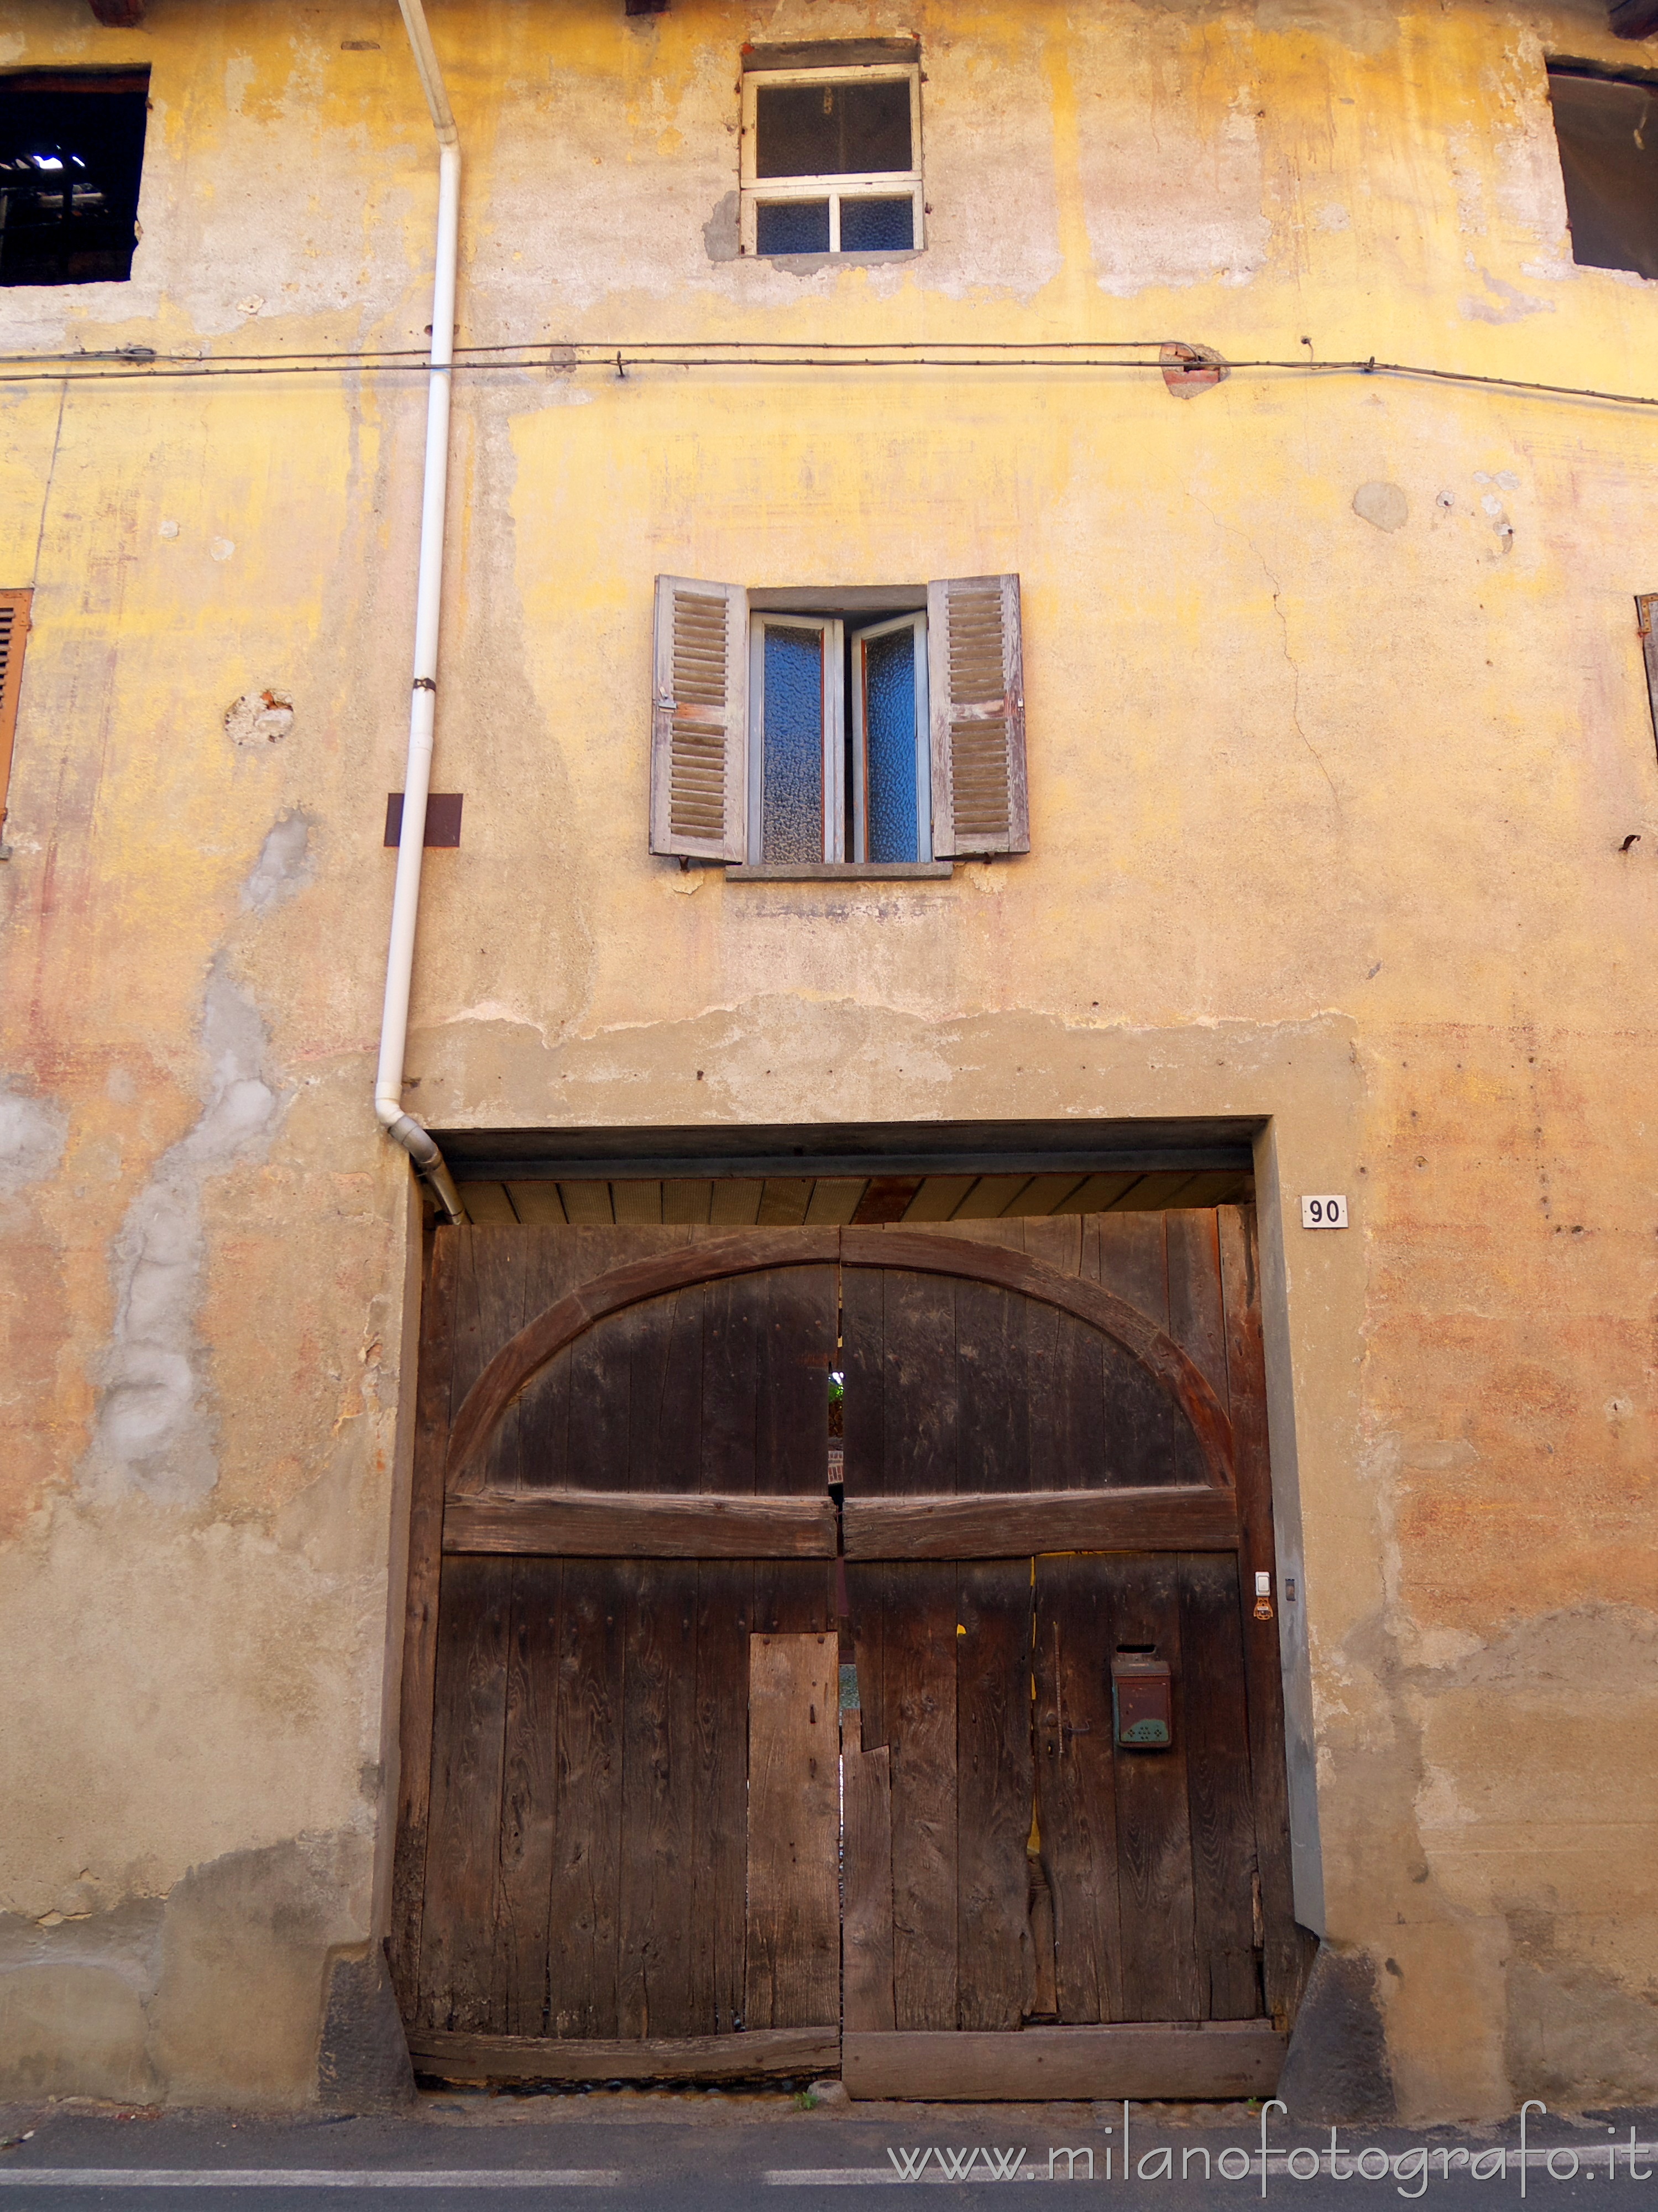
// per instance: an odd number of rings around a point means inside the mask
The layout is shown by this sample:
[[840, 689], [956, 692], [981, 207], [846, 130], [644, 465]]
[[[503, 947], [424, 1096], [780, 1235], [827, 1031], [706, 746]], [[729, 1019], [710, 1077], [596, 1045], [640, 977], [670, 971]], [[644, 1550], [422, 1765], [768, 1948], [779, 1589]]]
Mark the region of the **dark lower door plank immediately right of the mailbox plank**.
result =
[[1256, 2020], [1256, 1805], [1249, 1778], [1238, 1559], [1183, 1553], [1180, 1666], [1192, 1891], [1207, 2020]]

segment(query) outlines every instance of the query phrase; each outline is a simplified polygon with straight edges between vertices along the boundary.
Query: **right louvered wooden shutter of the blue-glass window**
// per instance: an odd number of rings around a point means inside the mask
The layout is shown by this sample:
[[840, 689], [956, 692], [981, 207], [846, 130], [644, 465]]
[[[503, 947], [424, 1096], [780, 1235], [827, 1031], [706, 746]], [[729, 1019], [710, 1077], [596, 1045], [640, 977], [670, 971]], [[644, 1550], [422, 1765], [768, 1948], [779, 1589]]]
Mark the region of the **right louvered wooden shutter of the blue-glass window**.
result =
[[933, 854], [1030, 852], [1019, 577], [926, 586]]

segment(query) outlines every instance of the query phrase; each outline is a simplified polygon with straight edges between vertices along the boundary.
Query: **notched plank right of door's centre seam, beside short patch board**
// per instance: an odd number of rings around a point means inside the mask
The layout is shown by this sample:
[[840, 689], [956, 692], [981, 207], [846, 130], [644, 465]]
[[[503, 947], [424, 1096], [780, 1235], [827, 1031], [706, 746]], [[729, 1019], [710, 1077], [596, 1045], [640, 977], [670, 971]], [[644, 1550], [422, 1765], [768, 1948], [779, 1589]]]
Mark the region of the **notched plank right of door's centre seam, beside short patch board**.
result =
[[864, 1747], [891, 1754], [898, 2026], [955, 2028], [955, 1568], [849, 1566], [847, 1588]]

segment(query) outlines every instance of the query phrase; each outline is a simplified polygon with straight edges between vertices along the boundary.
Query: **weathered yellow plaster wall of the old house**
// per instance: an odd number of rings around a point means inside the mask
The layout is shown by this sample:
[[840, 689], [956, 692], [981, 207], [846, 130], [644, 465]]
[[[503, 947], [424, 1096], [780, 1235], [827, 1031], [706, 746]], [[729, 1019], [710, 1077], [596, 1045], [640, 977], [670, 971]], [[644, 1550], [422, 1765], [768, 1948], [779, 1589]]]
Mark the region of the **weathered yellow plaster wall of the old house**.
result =
[[[433, 0], [433, 29], [473, 343], [1176, 336], [1651, 387], [1651, 288], [1563, 228], [1543, 55], [1627, 58], [1587, 7]], [[926, 252], [730, 259], [743, 40], [895, 29]], [[4, 352], [418, 347], [396, 11], [108, 33], [27, 0], [0, 33], [0, 66], [130, 60], [133, 283], [0, 294]], [[0, 2051], [22, 2086], [303, 2101], [327, 1962], [382, 1927], [413, 1225], [369, 1088], [422, 389], [46, 374], [0, 411], [0, 584], [35, 584]], [[466, 818], [427, 867], [409, 1108], [1269, 1117], [1324, 1924], [1377, 1964], [1417, 2117], [1658, 2095], [1656, 436], [1302, 372], [458, 378], [436, 783]], [[1373, 482], [1402, 529], [1355, 513]], [[1024, 584], [1030, 858], [917, 887], [648, 858], [657, 571], [986, 568]], [[237, 748], [263, 688], [292, 732]], [[1304, 1237], [1300, 1190], [1353, 1230]]]

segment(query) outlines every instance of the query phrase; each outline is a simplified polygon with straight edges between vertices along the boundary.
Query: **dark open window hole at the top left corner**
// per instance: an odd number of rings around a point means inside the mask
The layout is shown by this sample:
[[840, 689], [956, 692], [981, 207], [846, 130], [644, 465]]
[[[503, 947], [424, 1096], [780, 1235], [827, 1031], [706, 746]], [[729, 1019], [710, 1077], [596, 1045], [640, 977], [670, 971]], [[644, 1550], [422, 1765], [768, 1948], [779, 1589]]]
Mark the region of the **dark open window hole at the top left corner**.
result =
[[126, 283], [148, 71], [0, 77], [0, 285]]

